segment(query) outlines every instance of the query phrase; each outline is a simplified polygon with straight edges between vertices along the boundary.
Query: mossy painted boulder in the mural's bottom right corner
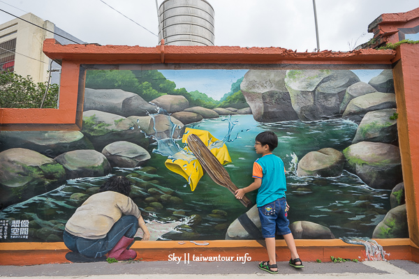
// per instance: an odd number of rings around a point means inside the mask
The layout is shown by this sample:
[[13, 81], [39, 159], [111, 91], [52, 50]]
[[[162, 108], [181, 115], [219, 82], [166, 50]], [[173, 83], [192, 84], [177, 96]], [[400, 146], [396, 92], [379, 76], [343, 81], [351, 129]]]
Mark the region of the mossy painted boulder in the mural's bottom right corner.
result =
[[407, 225], [406, 204], [388, 211], [384, 219], [378, 223], [373, 239], [408, 239], [409, 227]]

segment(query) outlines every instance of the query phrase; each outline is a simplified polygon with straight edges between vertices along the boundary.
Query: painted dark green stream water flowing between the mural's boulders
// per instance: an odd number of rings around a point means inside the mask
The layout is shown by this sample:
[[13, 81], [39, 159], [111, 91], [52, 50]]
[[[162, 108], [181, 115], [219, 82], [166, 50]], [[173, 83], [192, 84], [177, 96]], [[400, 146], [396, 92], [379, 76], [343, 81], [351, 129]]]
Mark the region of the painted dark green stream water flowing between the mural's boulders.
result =
[[[336, 238], [371, 237], [376, 225], [390, 209], [390, 190], [369, 188], [358, 176], [349, 172], [328, 178], [295, 175], [297, 158], [308, 152], [325, 147], [342, 151], [351, 145], [358, 128], [351, 121], [258, 123], [251, 115], [239, 115], [231, 119], [205, 119], [189, 127], [208, 130], [226, 143], [232, 163], [225, 167], [239, 188], [253, 181], [252, 166], [258, 158], [253, 146], [256, 135], [264, 130], [274, 131], [279, 137], [279, 146], [274, 154], [284, 160], [287, 169], [286, 194], [291, 206], [288, 214], [291, 223], [298, 220], [318, 223], [329, 227]], [[164, 166], [173, 151], [183, 149], [182, 142], [170, 141], [169, 144], [175, 144], [175, 149], [168, 153], [161, 153], [161, 142], [159, 144], [149, 146], [152, 158], [146, 167], [114, 168], [112, 174], [124, 175], [133, 181], [132, 197], [145, 213], [146, 220], [161, 223], [176, 220], [184, 224], [161, 239], [225, 239], [228, 225], [248, 209], [228, 189], [216, 185], [207, 174], [192, 192], [182, 176]], [[64, 186], [50, 193], [9, 206], [1, 211], [0, 219], [30, 220], [28, 241], [59, 241], [66, 220], [85, 198], [96, 193], [106, 179], [68, 180]], [[247, 195], [253, 202], [256, 200], [256, 192]], [[169, 197], [170, 202], [167, 202]], [[152, 202], [159, 202], [161, 208], [152, 208]]]

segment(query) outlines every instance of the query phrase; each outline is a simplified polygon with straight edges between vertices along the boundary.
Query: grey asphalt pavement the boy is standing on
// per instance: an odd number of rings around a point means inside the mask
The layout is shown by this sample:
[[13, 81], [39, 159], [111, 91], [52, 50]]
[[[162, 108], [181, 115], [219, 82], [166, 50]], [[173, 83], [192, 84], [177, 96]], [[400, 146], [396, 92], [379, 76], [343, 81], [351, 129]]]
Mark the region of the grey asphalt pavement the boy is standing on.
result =
[[304, 269], [294, 269], [288, 262], [278, 262], [279, 273], [258, 269], [258, 262], [108, 262], [41, 264], [36, 266], [0, 266], [0, 277], [34, 279], [250, 279], [265, 276], [281, 278], [419, 278], [419, 264], [404, 260], [376, 262], [316, 263], [304, 262]]

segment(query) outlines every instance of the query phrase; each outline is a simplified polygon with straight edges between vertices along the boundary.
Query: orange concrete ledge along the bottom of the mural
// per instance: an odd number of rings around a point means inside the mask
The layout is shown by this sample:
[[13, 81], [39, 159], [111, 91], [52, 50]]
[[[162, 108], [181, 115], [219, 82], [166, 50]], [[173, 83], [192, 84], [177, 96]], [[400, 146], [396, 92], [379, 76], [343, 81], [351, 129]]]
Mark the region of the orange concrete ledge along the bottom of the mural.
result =
[[[404, 259], [418, 262], [419, 249], [409, 239], [376, 239], [383, 250], [390, 255], [385, 259]], [[184, 244], [180, 244], [184, 242]], [[204, 241], [196, 241], [203, 243]], [[265, 260], [266, 250], [257, 241], [206, 241], [207, 246], [198, 246], [189, 241], [137, 241], [131, 247], [137, 251], [142, 261], [168, 261], [170, 255], [189, 256], [192, 262], [196, 257], [247, 257], [249, 261]], [[340, 239], [295, 240], [297, 250], [304, 262], [320, 259], [330, 262], [330, 256], [344, 259], [366, 259], [365, 247], [344, 243]], [[64, 243], [1, 243], [0, 265], [34, 265], [68, 263], [66, 253], [70, 252]], [[195, 257], [195, 258], [194, 258]], [[277, 260], [286, 262], [290, 252], [284, 240], [277, 240]]]

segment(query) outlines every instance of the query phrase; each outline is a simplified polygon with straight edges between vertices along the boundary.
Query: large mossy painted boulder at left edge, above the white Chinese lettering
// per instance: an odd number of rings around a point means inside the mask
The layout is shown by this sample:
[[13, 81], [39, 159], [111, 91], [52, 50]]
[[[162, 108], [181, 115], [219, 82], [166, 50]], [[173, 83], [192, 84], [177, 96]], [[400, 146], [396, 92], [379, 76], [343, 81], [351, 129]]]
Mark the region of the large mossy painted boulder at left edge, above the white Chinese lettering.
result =
[[0, 153], [0, 202], [16, 204], [58, 188], [66, 171], [51, 158], [29, 149], [8, 149]]

